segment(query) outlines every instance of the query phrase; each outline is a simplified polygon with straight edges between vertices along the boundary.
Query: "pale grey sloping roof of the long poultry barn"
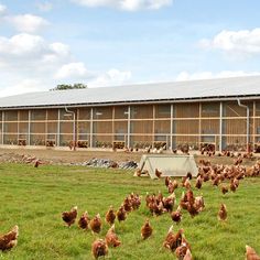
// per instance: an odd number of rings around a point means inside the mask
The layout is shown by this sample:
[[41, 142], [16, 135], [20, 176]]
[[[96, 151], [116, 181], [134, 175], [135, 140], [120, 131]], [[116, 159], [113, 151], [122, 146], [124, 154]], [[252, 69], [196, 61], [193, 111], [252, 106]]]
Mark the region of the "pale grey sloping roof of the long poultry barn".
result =
[[0, 108], [98, 105], [260, 95], [260, 76], [41, 91], [0, 98]]

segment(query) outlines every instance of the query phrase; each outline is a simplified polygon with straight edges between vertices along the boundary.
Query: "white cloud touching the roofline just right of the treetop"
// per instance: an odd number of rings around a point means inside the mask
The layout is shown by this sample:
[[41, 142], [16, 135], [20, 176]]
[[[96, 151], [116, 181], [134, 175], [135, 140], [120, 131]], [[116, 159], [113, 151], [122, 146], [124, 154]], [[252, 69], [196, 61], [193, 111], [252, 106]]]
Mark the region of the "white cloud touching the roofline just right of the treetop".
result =
[[129, 83], [131, 76], [131, 72], [121, 72], [116, 68], [111, 68], [105, 74], [90, 80], [87, 85], [89, 87], [119, 86]]

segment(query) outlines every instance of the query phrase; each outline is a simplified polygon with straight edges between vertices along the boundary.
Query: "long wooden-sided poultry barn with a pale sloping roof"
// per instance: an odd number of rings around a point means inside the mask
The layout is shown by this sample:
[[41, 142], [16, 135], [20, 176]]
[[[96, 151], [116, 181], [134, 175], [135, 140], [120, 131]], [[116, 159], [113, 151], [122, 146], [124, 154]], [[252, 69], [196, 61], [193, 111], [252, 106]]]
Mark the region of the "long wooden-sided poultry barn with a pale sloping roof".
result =
[[246, 151], [260, 141], [260, 76], [0, 98], [0, 145]]

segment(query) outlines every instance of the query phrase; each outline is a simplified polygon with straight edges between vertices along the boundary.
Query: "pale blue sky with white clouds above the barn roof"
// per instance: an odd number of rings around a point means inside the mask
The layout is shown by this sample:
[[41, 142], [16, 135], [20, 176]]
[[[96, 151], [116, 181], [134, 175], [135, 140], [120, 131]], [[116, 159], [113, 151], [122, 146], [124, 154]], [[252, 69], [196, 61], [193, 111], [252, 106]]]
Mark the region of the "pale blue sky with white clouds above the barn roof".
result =
[[0, 0], [0, 97], [260, 75], [259, 0]]

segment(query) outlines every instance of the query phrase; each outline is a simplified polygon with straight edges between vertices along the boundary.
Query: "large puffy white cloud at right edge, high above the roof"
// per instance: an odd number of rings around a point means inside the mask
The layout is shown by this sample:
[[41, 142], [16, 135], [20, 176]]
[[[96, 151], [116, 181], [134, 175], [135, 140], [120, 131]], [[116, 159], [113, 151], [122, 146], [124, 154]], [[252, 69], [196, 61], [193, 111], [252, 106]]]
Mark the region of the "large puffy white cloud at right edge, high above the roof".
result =
[[260, 28], [242, 31], [221, 31], [212, 40], [204, 39], [201, 45], [205, 48], [221, 50], [238, 55], [260, 54]]

